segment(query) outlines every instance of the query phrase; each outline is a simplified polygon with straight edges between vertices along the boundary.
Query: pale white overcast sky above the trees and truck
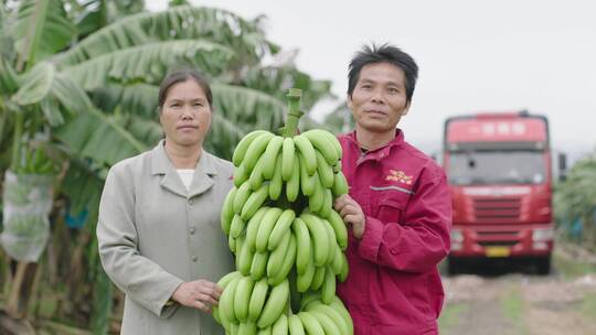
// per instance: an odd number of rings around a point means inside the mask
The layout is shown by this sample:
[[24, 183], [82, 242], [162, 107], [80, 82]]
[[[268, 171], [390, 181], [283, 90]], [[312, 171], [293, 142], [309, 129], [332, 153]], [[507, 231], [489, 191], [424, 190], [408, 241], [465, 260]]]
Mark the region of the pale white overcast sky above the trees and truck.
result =
[[[596, 1], [192, 0], [245, 19], [265, 14], [270, 41], [299, 51], [298, 68], [345, 97], [348, 63], [371, 42], [419, 66], [406, 140], [440, 149], [447, 117], [526, 109], [550, 120], [552, 147], [570, 158], [596, 149]], [[151, 10], [166, 0], [147, 0]], [[322, 119], [338, 102], [316, 106]]]

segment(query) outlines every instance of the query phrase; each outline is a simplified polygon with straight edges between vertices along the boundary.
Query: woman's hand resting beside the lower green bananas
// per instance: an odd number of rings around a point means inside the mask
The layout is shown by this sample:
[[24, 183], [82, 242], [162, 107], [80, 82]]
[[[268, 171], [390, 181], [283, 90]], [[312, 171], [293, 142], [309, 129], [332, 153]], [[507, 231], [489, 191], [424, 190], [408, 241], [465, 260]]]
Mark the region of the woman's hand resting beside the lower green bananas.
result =
[[222, 288], [217, 284], [200, 279], [181, 283], [173, 292], [172, 300], [184, 306], [211, 313], [211, 306], [217, 305], [222, 292]]

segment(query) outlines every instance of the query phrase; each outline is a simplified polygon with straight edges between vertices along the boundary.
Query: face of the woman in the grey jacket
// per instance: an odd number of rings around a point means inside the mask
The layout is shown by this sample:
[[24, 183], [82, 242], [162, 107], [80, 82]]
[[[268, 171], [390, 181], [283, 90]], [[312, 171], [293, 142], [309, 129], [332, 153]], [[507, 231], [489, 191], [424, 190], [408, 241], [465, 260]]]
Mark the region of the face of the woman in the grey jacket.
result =
[[202, 147], [211, 125], [211, 106], [203, 88], [193, 79], [172, 85], [161, 107], [159, 121], [167, 142]]

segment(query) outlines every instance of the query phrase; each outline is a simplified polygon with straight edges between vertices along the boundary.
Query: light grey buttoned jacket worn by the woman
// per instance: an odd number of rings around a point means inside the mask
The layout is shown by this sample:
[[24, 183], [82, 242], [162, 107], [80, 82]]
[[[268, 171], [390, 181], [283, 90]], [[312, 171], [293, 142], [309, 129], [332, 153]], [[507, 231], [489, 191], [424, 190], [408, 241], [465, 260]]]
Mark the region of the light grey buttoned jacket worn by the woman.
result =
[[106, 273], [126, 294], [121, 334], [224, 334], [211, 314], [166, 303], [183, 281], [234, 271], [220, 226], [232, 174], [230, 162], [203, 151], [187, 191], [163, 141], [110, 169], [97, 239]]

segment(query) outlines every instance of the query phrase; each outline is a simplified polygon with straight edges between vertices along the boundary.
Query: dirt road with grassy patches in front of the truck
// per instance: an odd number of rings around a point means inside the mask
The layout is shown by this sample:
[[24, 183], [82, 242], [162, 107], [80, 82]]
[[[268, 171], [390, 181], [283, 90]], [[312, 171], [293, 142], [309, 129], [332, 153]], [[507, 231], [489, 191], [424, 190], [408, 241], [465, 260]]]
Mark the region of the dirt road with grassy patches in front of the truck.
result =
[[596, 264], [557, 251], [550, 275], [476, 272], [444, 277], [441, 335], [596, 334]]

